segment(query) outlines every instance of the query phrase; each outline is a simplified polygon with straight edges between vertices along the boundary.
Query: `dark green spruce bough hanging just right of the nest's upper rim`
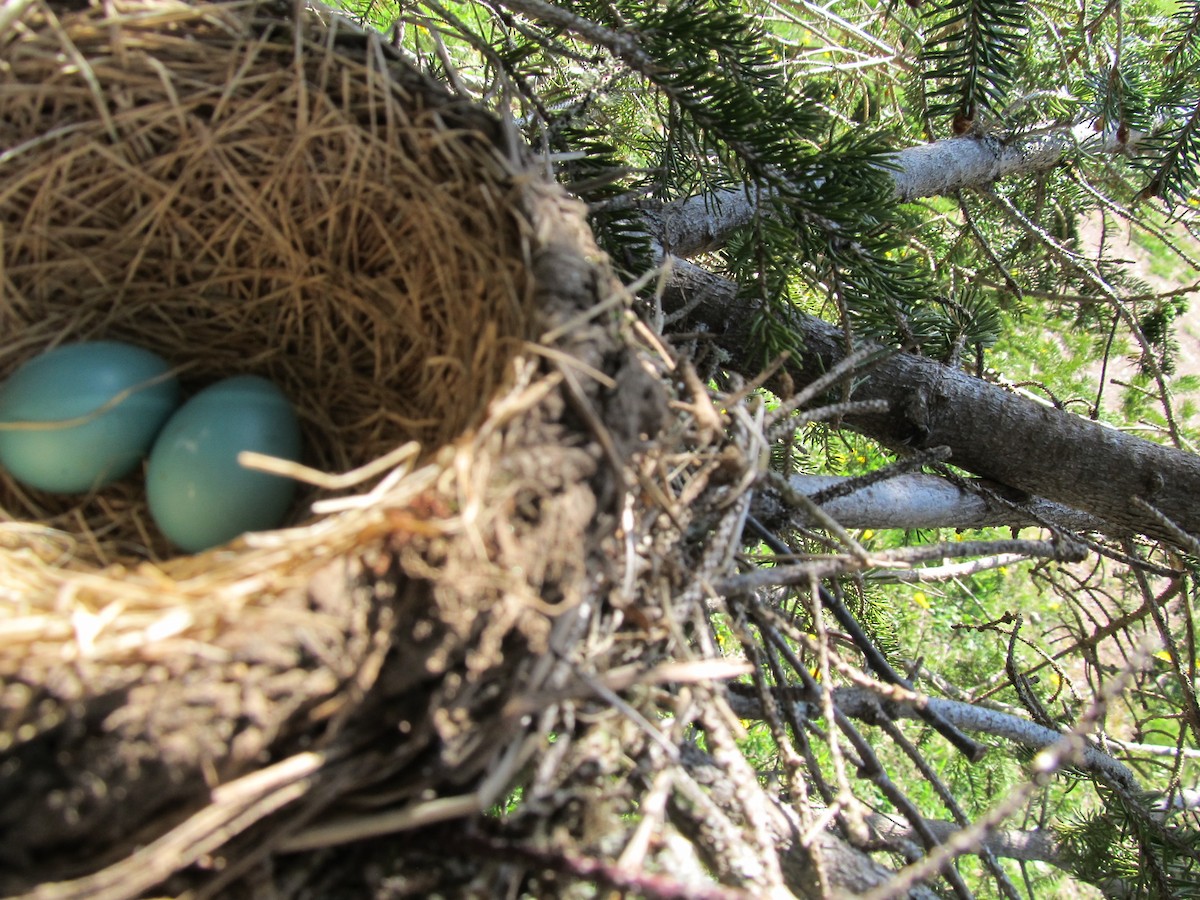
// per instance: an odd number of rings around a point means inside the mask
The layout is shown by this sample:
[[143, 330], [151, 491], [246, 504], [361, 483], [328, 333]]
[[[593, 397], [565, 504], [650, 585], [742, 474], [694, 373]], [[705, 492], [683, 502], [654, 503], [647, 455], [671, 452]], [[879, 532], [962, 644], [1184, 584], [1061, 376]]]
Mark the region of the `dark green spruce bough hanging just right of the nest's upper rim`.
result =
[[[798, 352], [787, 328], [797, 280], [828, 289], [857, 314], [887, 298], [872, 332], [904, 337], [907, 312], [934, 293], [928, 270], [904, 254], [908, 221], [889, 202], [893, 148], [883, 133], [832, 119], [811, 91], [787, 74], [757, 19], [712, 0], [665, 4], [575, 4], [571, 12], [617, 34], [636, 49], [613, 47], [659, 91], [665, 137], [652, 168], [656, 196], [692, 188], [695, 173], [719, 162], [722, 182], [786, 211], [785, 233], [758, 223], [731, 252], [728, 272], [757, 307], [752, 332], [764, 361]], [[584, 35], [586, 36], [586, 35]], [[610, 49], [613, 49], [610, 47]], [[654, 65], [644, 65], [646, 59]], [[709, 182], [712, 185], [712, 181]]]

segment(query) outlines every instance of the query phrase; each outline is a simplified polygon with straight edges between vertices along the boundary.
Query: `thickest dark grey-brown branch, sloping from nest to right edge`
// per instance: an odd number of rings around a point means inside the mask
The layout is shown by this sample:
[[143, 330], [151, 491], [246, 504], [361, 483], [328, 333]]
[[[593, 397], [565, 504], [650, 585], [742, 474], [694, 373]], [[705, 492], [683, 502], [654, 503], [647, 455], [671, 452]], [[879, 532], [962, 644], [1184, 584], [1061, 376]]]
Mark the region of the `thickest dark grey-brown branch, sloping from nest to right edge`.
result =
[[[709, 331], [733, 368], [760, 368], [749, 354], [752, 311], [727, 281], [686, 263], [676, 268], [666, 302], [691, 307], [680, 330]], [[788, 362], [809, 384], [846, 356], [834, 325], [797, 313], [805, 353]], [[1072, 413], [1043, 407], [940, 362], [896, 353], [854, 379], [853, 400], [880, 400], [883, 413], [850, 413], [844, 424], [896, 452], [950, 449], [950, 463], [1031, 497], [1088, 512], [1114, 535], [1180, 535], [1138, 500], [1192, 535], [1200, 534], [1200, 457]]]

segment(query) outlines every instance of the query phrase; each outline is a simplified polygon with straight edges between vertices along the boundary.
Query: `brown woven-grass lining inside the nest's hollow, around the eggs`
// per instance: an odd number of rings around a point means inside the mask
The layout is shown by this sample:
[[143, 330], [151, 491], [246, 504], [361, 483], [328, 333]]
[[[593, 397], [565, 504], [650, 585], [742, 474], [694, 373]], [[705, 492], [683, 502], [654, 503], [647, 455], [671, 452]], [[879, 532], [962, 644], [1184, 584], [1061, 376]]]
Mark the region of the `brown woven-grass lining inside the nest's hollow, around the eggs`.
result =
[[[534, 332], [497, 136], [336, 28], [118, 10], [4, 36], [0, 377], [102, 337], [188, 390], [262, 374], [328, 472], [478, 425]], [[0, 478], [0, 540], [56, 569], [172, 556], [137, 479], [80, 503]]]

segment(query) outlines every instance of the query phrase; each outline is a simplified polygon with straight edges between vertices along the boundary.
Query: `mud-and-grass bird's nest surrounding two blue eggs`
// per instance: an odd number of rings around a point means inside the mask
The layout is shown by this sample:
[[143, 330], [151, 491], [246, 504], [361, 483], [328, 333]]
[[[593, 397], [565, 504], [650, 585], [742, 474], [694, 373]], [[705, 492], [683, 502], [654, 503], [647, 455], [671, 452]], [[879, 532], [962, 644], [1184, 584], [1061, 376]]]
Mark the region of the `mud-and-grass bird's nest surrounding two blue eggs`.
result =
[[139, 478], [0, 475], [0, 892], [282, 895], [292, 866], [313, 895], [313, 860], [499, 802], [566, 733], [545, 697], [593, 696], [587, 641], [629, 661], [592, 617], [634, 599], [620, 497], [658, 515], [625, 491], [658, 478], [629, 468], [653, 342], [509, 131], [336, 17], [0, 19], [0, 377], [92, 338], [187, 390], [262, 374], [310, 469], [287, 527], [197, 556]]

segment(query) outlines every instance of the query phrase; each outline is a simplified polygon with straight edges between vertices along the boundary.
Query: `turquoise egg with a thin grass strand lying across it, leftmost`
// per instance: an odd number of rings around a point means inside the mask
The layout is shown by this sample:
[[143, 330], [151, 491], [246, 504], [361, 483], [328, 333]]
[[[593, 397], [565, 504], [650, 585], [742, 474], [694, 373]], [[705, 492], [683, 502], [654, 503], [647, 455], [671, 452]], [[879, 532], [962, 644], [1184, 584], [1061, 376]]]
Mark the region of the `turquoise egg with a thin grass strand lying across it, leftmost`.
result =
[[[94, 491], [138, 467], [179, 406], [161, 356], [116, 341], [64, 344], [20, 366], [0, 386], [0, 464], [30, 487]], [[124, 391], [113, 408], [91, 415]], [[5, 424], [68, 422], [61, 427]]]

